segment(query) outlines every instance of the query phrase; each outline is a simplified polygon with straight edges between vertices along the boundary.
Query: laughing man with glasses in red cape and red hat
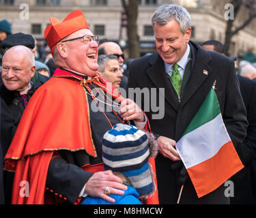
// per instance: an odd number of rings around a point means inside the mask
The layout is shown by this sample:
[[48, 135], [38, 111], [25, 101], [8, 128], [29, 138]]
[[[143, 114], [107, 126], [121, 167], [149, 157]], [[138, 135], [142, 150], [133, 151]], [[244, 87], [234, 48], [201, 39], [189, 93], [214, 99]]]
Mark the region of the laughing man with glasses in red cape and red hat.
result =
[[[44, 37], [59, 68], [31, 98], [5, 156], [5, 169], [16, 172], [12, 204], [74, 204], [87, 195], [114, 202], [109, 194], [127, 187], [103, 170], [102, 136], [127, 121], [147, 129], [145, 116], [96, 75], [98, 38], [83, 12], [50, 21]], [[102, 106], [106, 95], [113, 104]]]

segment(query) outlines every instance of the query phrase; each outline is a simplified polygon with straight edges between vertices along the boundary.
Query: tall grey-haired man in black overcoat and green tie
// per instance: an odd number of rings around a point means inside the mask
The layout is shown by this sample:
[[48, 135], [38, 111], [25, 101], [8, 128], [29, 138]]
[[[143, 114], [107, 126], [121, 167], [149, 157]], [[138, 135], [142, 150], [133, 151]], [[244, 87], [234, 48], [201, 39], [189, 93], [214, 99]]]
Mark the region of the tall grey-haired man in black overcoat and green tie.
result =
[[[142, 108], [158, 135], [160, 154], [156, 157], [156, 176], [160, 204], [175, 204], [180, 193], [180, 178], [184, 167], [175, 144], [199, 110], [212, 86], [215, 86], [223, 121], [235, 147], [246, 137], [246, 110], [239, 91], [233, 61], [216, 52], [203, 50], [190, 41], [190, 16], [184, 7], [162, 5], [152, 17], [157, 53], [132, 61], [128, 88], [164, 88], [156, 99], [143, 99]], [[177, 74], [177, 72], [179, 74]], [[173, 79], [176, 77], [177, 80]], [[215, 82], [214, 82], [215, 81]], [[176, 86], [175, 86], [176, 85]], [[165, 114], [153, 119], [154, 110], [145, 104], [158, 104], [164, 99]], [[156, 100], [157, 102], [152, 102]], [[182, 170], [183, 169], [183, 170]], [[182, 174], [180, 174], [182, 172]], [[186, 176], [184, 176], [186, 177]], [[211, 193], [197, 198], [190, 178], [186, 180], [180, 203], [229, 204], [222, 185]]]

